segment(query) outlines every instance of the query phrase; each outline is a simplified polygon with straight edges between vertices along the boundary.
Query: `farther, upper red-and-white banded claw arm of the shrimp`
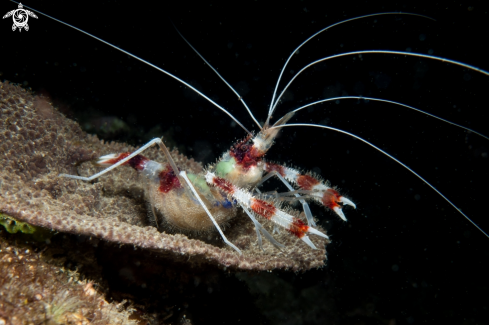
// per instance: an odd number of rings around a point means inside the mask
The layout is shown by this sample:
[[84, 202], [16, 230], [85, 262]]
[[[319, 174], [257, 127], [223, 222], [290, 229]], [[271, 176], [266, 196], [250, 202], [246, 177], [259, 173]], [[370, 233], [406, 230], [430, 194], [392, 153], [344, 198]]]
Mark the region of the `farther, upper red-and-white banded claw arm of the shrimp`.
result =
[[343, 206], [350, 205], [356, 209], [355, 203], [353, 203], [350, 199], [342, 196], [327, 183], [311, 175], [301, 174], [296, 169], [269, 162], [265, 163], [264, 170], [269, 173], [275, 172], [299, 187], [299, 191], [282, 193], [284, 196], [297, 196], [298, 194], [301, 194], [301, 197], [314, 199], [316, 202], [336, 212], [336, 214], [344, 221], [346, 221], [346, 217], [342, 210]]

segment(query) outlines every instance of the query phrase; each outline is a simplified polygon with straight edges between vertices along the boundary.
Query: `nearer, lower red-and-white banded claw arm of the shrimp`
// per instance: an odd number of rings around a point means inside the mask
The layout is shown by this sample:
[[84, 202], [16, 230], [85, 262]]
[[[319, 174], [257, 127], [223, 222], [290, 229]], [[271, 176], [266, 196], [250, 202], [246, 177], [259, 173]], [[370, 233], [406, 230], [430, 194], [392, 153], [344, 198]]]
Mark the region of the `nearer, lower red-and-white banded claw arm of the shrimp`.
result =
[[257, 199], [246, 190], [234, 186], [224, 178], [217, 177], [214, 173], [207, 172], [205, 179], [208, 184], [220, 188], [222, 191], [232, 196], [245, 209], [251, 209], [254, 213], [271, 220], [273, 223], [287, 229], [291, 234], [302, 239], [312, 249], [316, 246], [307, 236], [308, 233], [329, 239], [329, 237], [319, 230], [306, 225], [302, 220], [278, 209], [273, 203]]

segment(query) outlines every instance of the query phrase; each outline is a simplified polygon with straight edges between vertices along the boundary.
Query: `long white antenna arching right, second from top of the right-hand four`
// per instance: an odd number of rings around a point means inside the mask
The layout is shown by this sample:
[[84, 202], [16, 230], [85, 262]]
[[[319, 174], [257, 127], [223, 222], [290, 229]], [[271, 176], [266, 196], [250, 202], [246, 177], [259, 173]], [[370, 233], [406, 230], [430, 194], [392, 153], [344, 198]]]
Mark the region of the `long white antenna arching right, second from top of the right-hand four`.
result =
[[441, 61], [441, 62], [448, 62], [448, 63], [454, 64], [454, 65], [458, 65], [458, 66], [461, 66], [461, 67], [464, 67], [464, 68], [467, 68], [467, 69], [470, 69], [470, 70], [474, 70], [474, 71], [480, 72], [482, 74], [485, 74], [486, 76], [489, 76], [489, 72], [488, 71], [485, 71], [485, 70], [482, 70], [480, 68], [474, 67], [474, 66], [472, 66], [470, 64], [462, 63], [462, 62], [455, 61], [455, 60], [445, 59], [445, 58], [442, 58], [442, 57], [439, 57], [439, 56], [428, 55], [428, 54], [402, 52], [402, 51], [388, 51], [388, 50], [366, 50], [366, 51], [354, 51], [354, 52], [340, 53], [340, 54], [335, 54], [335, 55], [327, 56], [325, 58], [322, 58], [322, 59], [319, 59], [317, 61], [311, 62], [308, 65], [306, 65], [304, 68], [302, 68], [299, 72], [297, 72], [295, 74], [295, 76], [292, 77], [292, 79], [290, 79], [290, 81], [287, 84], [287, 86], [285, 86], [285, 88], [282, 90], [282, 92], [280, 93], [280, 96], [278, 96], [277, 100], [275, 101], [275, 104], [272, 107], [272, 112], [271, 112], [270, 116], [273, 114], [275, 108], [277, 107], [277, 104], [278, 104], [280, 98], [283, 96], [283, 94], [285, 93], [285, 91], [287, 90], [287, 88], [289, 88], [289, 86], [292, 83], [292, 81], [294, 81], [307, 68], [312, 67], [313, 65], [318, 64], [320, 62], [323, 62], [323, 61], [326, 61], [326, 60], [335, 59], [335, 58], [340, 58], [340, 57], [343, 57], [343, 56], [357, 55], [357, 54], [373, 54], [373, 53], [375, 53], [375, 54], [382, 53], [382, 54], [407, 55], [407, 56], [414, 56], [414, 57], [419, 57], [419, 58], [426, 58], [426, 59], [437, 60], [437, 61]]

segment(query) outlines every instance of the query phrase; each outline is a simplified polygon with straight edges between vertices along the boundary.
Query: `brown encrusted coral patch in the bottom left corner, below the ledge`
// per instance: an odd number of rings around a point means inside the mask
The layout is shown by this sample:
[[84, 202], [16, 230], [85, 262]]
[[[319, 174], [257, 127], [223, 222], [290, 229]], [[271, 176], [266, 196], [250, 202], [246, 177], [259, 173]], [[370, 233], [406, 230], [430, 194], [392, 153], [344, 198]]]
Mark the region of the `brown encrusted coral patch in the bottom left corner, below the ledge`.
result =
[[0, 237], [0, 324], [137, 324], [118, 307], [78, 273]]

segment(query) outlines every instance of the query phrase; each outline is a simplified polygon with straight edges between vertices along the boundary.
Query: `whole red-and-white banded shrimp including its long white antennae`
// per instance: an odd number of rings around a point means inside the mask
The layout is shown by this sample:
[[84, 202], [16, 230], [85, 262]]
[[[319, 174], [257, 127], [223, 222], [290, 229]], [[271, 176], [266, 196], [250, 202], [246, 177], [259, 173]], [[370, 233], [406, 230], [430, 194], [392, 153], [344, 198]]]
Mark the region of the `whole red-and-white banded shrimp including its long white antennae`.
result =
[[[32, 8], [31, 8], [32, 9]], [[39, 12], [40, 13], [40, 12]], [[43, 13], [40, 13], [45, 15]], [[186, 170], [180, 169], [172, 159], [170, 152], [166, 148], [162, 139], [156, 138], [142, 146], [135, 152], [118, 152], [104, 155], [98, 159], [98, 165], [106, 166], [107, 168], [101, 172], [90, 176], [76, 176], [61, 174], [61, 177], [68, 177], [79, 179], [83, 181], [91, 181], [96, 179], [103, 174], [111, 171], [112, 169], [128, 165], [133, 169], [137, 170], [138, 173], [144, 177], [147, 182], [147, 200], [150, 202], [153, 215], [156, 217], [157, 213], [163, 216], [163, 218], [174, 228], [181, 229], [183, 231], [202, 231], [202, 230], [212, 230], [217, 229], [220, 236], [224, 242], [233, 248], [236, 252], [241, 254], [241, 250], [236, 247], [231, 241], [229, 241], [221, 227], [223, 224], [228, 222], [231, 218], [236, 215], [237, 208], [241, 208], [244, 213], [251, 219], [255, 226], [258, 244], [262, 247], [262, 236], [264, 236], [268, 241], [270, 241], [277, 248], [283, 247], [273, 236], [270, 234], [265, 227], [262, 225], [264, 219], [271, 221], [274, 224], [274, 232], [277, 229], [285, 229], [290, 233], [291, 236], [296, 236], [301, 239], [306, 245], [311, 249], [316, 249], [316, 246], [311, 241], [309, 236], [319, 236], [329, 240], [328, 235], [321, 230], [317, 229], [315, 219], [311, 213], [309, 203], [314, 202], [319, 205], [324, 206], [326, 209], [332, 210], [339, 218], [346, 221], [343, 208], [350, 206], [356, 208], [355, 203], [349, 198], [340, 194], [332, 185], [328, 182], [322, 180], [319, 176], [312, 173], [304, 173], [298, 169], [284, 166], [279, 163], [274, 163], [267, 161], [264, 157], [268, 150], [272, 147], [277, 134], [280, 132], [281, 128], [284, 127], [316, 127], [328, 130], [333, 130], [336, 132], [341, 132], [348, 136], [354, 137], [372, 148], [383, 153], [387, 157], [396, 161], [398, 164], [409, 170], [416, 177], [421, 179], [424, 183], [430, 186], [434, 191], [436, 191], [440, 196], [442, 196], [450, 205], [457, 209], [470, 223], [477, 227], [484, 235], [488, 236], [481, 228], [479, 228], [467, 215], [461, 212], [447, 197], [445, 197], [440, 191], [438, 191], [434, 186], [423, 179], [419, 174], [414, 172], [408, 166], [376, 147], [375, 145], [367, 142], [354, 134], [348, 133], [343, 130], [335, 129], [332, 127], [318, 125], [318, 124], [291, 124], [288, 123], [289, 120], [300, 110], [320, 103], [328, 101], [338, 101], [338, 100], [370, 100], [379, 101], [384, 103], [389, 103], [392, 105], [408, 108], [415, 110], [419, 113], [426, 114], [430, 117], [439, 119], [443, 122], [452, 124], [453, 126], [460, 127], [464, 130], [471, 131], [479, 136], [486, 139], [488, 137], [468, 129], [464, 126], [455, 124], [453, 122], [447, 121], [445, 119], [439, 118], [417, 108], [401, 104], [398, 102], [378, 99], [378, 98], [368, 98], [368, 97], [358, 97], [358, 96], [343, 96], [336, 98], [327, 98], [315, 102], [303, 105], [289, 113], [287, 113], [282, 118], [278, 119], [277, 122], [271, 123], [271, 118], [276, 106], [280, 103], [282, 95], [286, 92], [289, 85], [300, 75], [304, 70], [309, 67], [338, 57], [349, 56], [349, 55], [363, 55], [363, 54], [378, 54], [383, 53], [387, 55], [404, 55], [404, 56], [415, 56], [430, 60], [438, 60], [443, 62], [448, 62], [454, 65], [462, 66], [467, 69], [471, 69], [485, 75], [489, 75], [489, 72], [478, 69], [476, 67], [449, 60], [446, 58], [436, 57], [432, 55], [418, 54], [413, 52], [399, 52], [399, 51], [385, 51], [385, 50], [369, 50], [369, 51], [355, 51], [340, 53], [333, 56], [328, 56], [320, 60], [314, 61], [306, 65], [294, 77], [287, 83], [287, 85], [278, 92], [279, 83], [286, 69], [288, 62], [291, 60], [293, 55], [305, 45], [309, 40], [317, 36], [318, 34], [336, 26], [356, 19], [364, 19], [372, 16], [386, 15], [386, 14], [400, 14], [394, 12], [378, 13], [372, 15], [366, 15], [361, 17], [356, 17], [348, 20], [344, 20], [328, 26], [300, 44], [288, 57], [285, 65], [277, 80], [275, 91], [272, 95], [270, 108], [268, 110], [267, 118], [265, 123], [262, 125], [257, 121], [255, 116], [251, 113], [250, 109], [244, 102], [243, 98], [234, 90], [229, 83], [227, 83], [224, 78], [222, 78], [219, 73], [197, 52], [196, 49], [187, 42], [187, 40], [180, 34], [180, 36], [189, 44], [189, 46], [205, 61], [207, 65], [226, 83], [226, 85], [237, 95], [238, 99], [242, 102], [245, 109], [250, 114], [253, 121], [258, 125], [259, 131], [256, 134], [251, 133], [248, 129], [238, 121], [234, 116], [232, 116], [227, 110], [221, 107], [219, 104], [214, 102], [212, 99], [204, 95], [202, 92], [179, 79], [175, 75], [161, 69], [160, 67], [153, 65], [121, 48], [118, 48], [106, 41], [103, 41], [95, 36], [88, 34], [84, 31], [86, 35], [93, 37], [106, 45], [121, 51], [134, 59], [137, 59], [144, 64], [147, 64], [158, 71], [172, 77], [183, 85], [187, 86], [204, 99], [209, 101], [215, 107], [220, 109], [222, 112], [227, 114], [232, 118], [240, 127], [242, 127], [247, 135], [244, 139], [237, 141], [229, 150], [227, 150], [215, 164], [212, 164], [206, 168], [204, 172], [201, 173], [190, 173]], [[407, 14], [404, 15], [415, 15]], [[47, 16], [47, 15], [45, 15]], [[64, 25], [74, 28], [64, 22], [61, 22], [55, 18], [47, 16], [54, 19]], [[425, 16], [422, 16], [425, 17]], [[429, 18], [429, 17], [425, 17]], [[77, 29], [79, 30], [79, 29]], [[79, 30], [80, 31], [80, 30]], [[177, 30], [178, 32], [178, 30]], [[179, 33], [179, 32], [178, 32]], [[144, 156], [143, 152], [152, 147], [153, 145], [158, 145], [163, 151], [167, 162], [159, 163], [148, 159]], [[124, 167], [127, 168], [127, 167]], [[276, 177], [280, 180], [284, 186], [287, 188], [286, 192], [264, 192], [262, 193], [259, 188], [271, 177]], [[305, 219], [300, 218], [297, 211], [292, 210], [288, 207], [288, 203], [300, 203], [302, 205], [302, 210], [305, 215]], [[303, 221], [304, 220], [304, 221]], [[489, 237], [489, 236], [488, 236]]]

